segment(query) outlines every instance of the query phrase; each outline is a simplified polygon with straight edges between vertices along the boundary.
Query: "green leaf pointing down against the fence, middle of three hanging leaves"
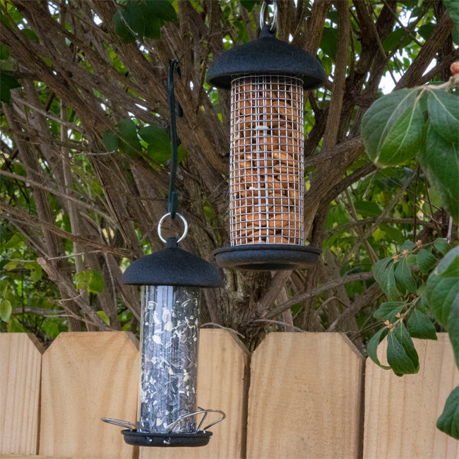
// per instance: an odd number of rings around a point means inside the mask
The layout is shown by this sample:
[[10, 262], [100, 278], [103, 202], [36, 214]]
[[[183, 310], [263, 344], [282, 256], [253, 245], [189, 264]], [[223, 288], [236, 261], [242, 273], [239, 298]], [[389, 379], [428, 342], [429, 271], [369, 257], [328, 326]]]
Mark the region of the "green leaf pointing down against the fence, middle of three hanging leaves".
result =
[[419, 357], [403, 322], [388, 333], [387, 362], [397, 376], [419, 371]]

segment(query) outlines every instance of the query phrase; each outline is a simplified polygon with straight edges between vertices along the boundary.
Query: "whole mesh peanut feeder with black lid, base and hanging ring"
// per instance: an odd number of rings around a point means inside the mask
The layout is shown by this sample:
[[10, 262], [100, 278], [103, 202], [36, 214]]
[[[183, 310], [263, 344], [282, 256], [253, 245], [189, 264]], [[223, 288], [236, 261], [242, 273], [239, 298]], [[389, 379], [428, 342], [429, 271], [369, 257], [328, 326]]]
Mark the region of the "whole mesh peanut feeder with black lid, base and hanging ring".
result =
[[229, 222], [231, 246], [218, 266], [281, 270], [310, 266], [320, 250], [304, 246], [304, 90], [326, 81], [321, 62], [275, 38], [277, 6], [258, 40], [209, 66], [207, 81], [231, 89]]

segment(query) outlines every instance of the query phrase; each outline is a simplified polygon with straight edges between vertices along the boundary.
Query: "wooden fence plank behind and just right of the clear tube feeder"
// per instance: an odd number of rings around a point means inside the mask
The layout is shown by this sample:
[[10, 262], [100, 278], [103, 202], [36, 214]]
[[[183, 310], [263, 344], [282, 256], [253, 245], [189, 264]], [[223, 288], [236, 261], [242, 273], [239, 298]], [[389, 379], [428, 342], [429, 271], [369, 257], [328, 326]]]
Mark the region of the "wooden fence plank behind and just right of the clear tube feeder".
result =
[[[241, 458], [245, 448], [249, 353], [227, 330], [201, 330], [198, 354], [198, 405], [223, 410], [227, 418], [215, 424], [208, 446], [199, 448], [140, 448], [141, 459]], [[217, 419], [208, 415], [209, 421]]]

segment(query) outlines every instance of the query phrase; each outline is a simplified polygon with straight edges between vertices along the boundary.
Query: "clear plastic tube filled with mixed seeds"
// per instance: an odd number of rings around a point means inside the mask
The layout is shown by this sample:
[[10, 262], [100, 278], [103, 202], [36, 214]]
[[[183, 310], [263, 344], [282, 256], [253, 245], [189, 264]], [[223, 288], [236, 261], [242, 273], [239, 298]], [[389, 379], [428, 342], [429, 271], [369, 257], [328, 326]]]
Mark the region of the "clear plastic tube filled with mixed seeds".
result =
[[[196, 411], [199, 292], [196, 287], [143, 287], [140, 431], [167, 433], [169, 424]], [[196, 431], [195, 417], [174, 431]]]

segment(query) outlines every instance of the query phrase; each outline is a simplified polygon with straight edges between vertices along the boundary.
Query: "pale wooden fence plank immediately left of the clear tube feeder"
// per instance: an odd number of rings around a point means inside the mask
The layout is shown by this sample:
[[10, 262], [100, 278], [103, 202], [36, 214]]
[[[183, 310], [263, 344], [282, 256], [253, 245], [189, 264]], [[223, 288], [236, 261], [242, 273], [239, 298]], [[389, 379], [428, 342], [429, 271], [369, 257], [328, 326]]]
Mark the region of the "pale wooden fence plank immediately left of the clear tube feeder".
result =
[[40, 455], [132, 458], [100, 418], [136, 420], [138, 366], [132, 333], [61, 333], [42, 359]]

